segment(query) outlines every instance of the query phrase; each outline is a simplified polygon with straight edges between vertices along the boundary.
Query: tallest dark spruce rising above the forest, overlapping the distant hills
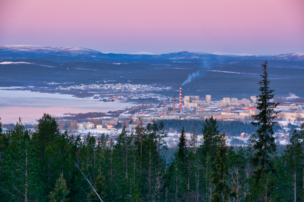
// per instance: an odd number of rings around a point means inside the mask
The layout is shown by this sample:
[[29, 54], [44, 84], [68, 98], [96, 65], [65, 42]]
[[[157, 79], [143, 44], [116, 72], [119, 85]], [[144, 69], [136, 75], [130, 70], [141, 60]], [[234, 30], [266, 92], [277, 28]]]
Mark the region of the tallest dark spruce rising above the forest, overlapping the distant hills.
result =
[[263, 175], [268, 173], [275, 173], [273, 165], [273, 155], [276, 152], [275, 138], [272, 137], [275, 131], [273, 126], [276, 122], [275, 114], [278, 111], [274, 109], [279, 103], [270, 102], [274, 97], [272, 94], [275, 90], [270, 90], [267, 73], [267, 60], [264, 64], [261, 64], [264, 73], [261, 74], [263, 78], [258, 84], [261, 86], [259, 91], [261, 94], [258, 95], [257, 110], [260, 112], [258, 115], [252, 115], [255, 122], [251, 122], [252, 125], [257, 126], [256, 136], [258, 140], [254, 142], [253, 148], [256, 150], [254, 157], [252, 158], [252, 163], [256, 166], [256, 171], [254, 171], [254, 183], [257, 184]]

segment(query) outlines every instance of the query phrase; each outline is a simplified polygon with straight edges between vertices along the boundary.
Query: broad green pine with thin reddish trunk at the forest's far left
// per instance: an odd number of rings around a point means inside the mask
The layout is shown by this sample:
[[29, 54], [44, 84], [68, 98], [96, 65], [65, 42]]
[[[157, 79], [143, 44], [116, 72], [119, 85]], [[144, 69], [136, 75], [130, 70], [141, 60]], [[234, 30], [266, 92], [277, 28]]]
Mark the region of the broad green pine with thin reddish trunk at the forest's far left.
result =
[[18, 138], [13, 139], [5, 159], [7, 181], [3, 189], [11, 197], [6, 201], [44, 201], [43, 186], [38, 175], [40, 162], [29, 131], [24, 131], [22, 124], [16, 124], [13, 134], [18, 134]]

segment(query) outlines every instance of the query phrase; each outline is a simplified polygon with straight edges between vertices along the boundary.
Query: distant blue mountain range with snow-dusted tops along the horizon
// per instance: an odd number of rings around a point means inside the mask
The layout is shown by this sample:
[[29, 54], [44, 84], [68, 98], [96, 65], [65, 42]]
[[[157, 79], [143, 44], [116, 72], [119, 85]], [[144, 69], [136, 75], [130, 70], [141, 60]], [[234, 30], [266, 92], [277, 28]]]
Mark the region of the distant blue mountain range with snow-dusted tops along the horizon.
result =
[[[146, 53], [146, 54], [145, 54]], [[29, 45], [1, 45], [0, 60], [9, 59], [41, 59], [45, 57], [82, 57], [90, 59], [115, 59], [115, 60], [169, 60], [169, 61], [195, 61], [195, 60], [210, 60], [209, 62], [224, 61], [224, 60], [294, 60], [304, 61], [304, 54], [289, 53], [281, 55], [225, 55], [221, 52], [214, 54], [199, 53], [192, 51], [183, 51], [177, 53], [168, 53], [161, 55], [151, 55], [148, 52], [139, 52], [132, 54], [117, 54], [117, 53], [101, 53], [95, 50], [78, 47], [60, 47], [60, 46], [29, 46]], [[219, 54], [220, 53], [220, 54]], [[229, 53], [232, 54], [232, 53]], [[79, 60], [79, 59], [78, 59]], [[85, 59], [84, 59], [85, 60]]]

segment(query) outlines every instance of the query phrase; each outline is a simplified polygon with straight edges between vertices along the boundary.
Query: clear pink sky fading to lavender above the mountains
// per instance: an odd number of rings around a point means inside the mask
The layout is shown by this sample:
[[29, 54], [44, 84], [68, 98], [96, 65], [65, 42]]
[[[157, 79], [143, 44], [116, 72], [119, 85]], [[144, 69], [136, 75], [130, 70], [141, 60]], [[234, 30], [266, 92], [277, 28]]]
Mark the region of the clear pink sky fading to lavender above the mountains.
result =
[[304, 53], [303, 0], [1, 0], [0, 45]]

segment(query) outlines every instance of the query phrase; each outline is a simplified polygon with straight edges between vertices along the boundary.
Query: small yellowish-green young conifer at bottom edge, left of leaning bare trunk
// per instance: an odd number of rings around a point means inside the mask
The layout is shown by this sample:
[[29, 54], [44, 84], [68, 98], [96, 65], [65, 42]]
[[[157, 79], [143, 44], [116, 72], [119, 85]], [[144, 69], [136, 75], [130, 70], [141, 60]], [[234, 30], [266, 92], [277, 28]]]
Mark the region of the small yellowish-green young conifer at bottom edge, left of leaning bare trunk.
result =
[[67, 188], [67, 184], [63, 178], [63, 174], [60, 174], [60, 177], [57, 179], [55, 184], [54, 191], [50, 192], [50, 202], [65, 202], [69, 199], [67, 195], [69, 194], [69, 190]]

